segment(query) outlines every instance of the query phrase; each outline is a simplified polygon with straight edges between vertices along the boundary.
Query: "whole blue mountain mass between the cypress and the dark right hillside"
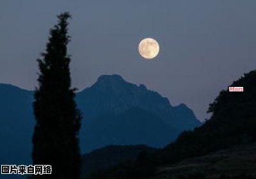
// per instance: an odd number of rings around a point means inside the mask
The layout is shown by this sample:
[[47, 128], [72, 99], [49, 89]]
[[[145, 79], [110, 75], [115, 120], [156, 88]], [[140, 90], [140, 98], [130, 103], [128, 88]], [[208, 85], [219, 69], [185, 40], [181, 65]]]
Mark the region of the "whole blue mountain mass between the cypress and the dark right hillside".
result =
[[102, 75], [76, 97], [83, 112], [81, 149], [90, 152], [108, 144], [148, 144], [163, 147], [180, 132], [200, 125], [184, 104], [173, 107], [167, 98], [124, 81]]

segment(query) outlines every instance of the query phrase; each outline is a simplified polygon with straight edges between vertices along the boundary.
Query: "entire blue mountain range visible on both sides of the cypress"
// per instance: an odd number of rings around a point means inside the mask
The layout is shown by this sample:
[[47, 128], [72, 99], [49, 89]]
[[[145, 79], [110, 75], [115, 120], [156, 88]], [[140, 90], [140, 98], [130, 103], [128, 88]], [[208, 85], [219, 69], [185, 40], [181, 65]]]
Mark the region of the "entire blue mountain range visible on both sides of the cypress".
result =
[[[33, 91], [0, 84], [0, 99], [0, 161], [31, 164]], [[182, 130], [201, 124], [186, 105], [172, 106], [159, 93], [126, 82], [120, 75], [100, 76], [77, 93], [76, 101], [83, 113], [82, 153], [109, 144], [163, 147]]]

